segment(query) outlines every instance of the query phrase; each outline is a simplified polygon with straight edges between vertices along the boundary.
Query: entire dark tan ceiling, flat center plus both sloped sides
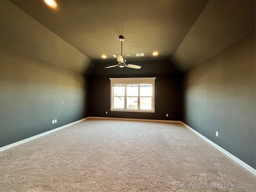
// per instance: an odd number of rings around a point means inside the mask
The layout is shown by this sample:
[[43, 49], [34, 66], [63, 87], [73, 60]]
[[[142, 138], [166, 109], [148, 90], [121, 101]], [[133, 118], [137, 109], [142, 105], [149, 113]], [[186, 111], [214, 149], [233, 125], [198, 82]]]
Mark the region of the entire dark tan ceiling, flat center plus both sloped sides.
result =
[[[123, 35], [123, 56], [130, 54], [127, 61], [138, 61], [135, 54], [144, 53], [144, 60], [169, 59], [187, 71], [255, 31], [254, 0], [56, 2], [54, 9], [44, 0], [2, 0], [0, 12], [5, 12], [6, 20], [0, 23], [5, 26], [0, 43], [84, 73], [91, 62], [106, 62], [102, 54], [107, 62], [113, 61], [112, 55], [121, 52], [118, 36]], [[22, 36], [18, 35], [20, 30]], [[38, 50], [32, 48], [36, 41], [41, 42]], [[49, 48], [59, 56], [49, 56]], [[157, 57], [152, 56], [154, 51], [159, 52]], [[74, 63], [74, 69], [68, 63]]]

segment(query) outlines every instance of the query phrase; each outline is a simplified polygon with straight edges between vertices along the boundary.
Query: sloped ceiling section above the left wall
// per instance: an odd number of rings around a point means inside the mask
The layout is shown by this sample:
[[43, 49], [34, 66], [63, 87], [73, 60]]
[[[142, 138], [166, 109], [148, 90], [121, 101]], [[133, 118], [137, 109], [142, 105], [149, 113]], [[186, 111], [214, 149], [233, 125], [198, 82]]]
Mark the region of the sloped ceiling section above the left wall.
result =
[[7, 0], [0, 1], [0, 44], [77, 73], [92, 62]]

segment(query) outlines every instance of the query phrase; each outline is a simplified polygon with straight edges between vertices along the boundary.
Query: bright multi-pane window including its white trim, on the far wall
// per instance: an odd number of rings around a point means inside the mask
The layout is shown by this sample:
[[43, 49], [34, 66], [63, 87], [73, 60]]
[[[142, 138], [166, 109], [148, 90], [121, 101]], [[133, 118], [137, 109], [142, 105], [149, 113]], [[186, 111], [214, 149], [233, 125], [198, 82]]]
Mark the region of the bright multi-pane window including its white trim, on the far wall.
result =
[[109, 79], [110, 111], [155, 112], [155, 77]]

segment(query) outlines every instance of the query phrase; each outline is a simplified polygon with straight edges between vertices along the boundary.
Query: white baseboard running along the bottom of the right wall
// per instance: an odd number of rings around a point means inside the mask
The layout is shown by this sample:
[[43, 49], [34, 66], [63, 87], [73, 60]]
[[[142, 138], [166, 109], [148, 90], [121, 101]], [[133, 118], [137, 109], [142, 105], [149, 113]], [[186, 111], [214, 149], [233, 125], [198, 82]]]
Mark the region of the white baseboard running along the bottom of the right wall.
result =
[[204, 140], [206, 140], [208, 143], [210, 143], [212, 146], [216, 147], [218, 150], [220, 150], [222, 153], [224, 153], [225, 155], [227, 155], [228, 157], [232, 158], [234, 161], [236, 161], [237, 163], [239, 163], [240, 165], [242, 165], [244, 168], [246, 168], [247, 170], [249, 170], [250, 172], [252, 172], [253, 174], [256, 175], [256, 170], [254, 168], [252, 168], [251, 166], [249, 166], [248, 164], [246, 164], [245, 162], [241, 161], [240, 159], [238, 159], [236, 156], [232, 155], [230, 152], [227, 152], [226, 150], [224, 150], [223, 148], [221, 148], [220, 146], [218, 146], [217, 144], [215, 144], [214, 142], [212, 142], [211, 140], [209, 140], [208, 138], [206, 138], [205, 136], [203, 136], [202, 134], [198, 133], [196, 130], [192, 129], [190, 126], [186, 125], [183, 122], [180, 122], [181, 124], [183, 124], [184, 126], [186, 126], [187, 128], [189, 128], [190, 130], [192, 130], [195, 134], [197, 134], [198, 136], [200, 136], [201, 138], [203, 138]]

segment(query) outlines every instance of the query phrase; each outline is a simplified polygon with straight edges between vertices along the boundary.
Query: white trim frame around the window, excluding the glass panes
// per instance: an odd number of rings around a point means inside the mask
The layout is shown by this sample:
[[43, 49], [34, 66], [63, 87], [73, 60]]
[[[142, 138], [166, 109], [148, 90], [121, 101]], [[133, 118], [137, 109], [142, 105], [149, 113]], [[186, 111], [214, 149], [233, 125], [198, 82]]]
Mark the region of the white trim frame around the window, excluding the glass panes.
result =
[[[121, 111], [121, 112], [146, 112], [146, 113], [154, 113], [155, 112], [155, 79], [156, 77], [146, 77], [146, 78], [109, 78], [110, 79], [110, 111]], [[152, 95], [152, 110], [134, 110], [134, 109], [113, 109], [113, 84], [153, 84], [153, 95]]]

